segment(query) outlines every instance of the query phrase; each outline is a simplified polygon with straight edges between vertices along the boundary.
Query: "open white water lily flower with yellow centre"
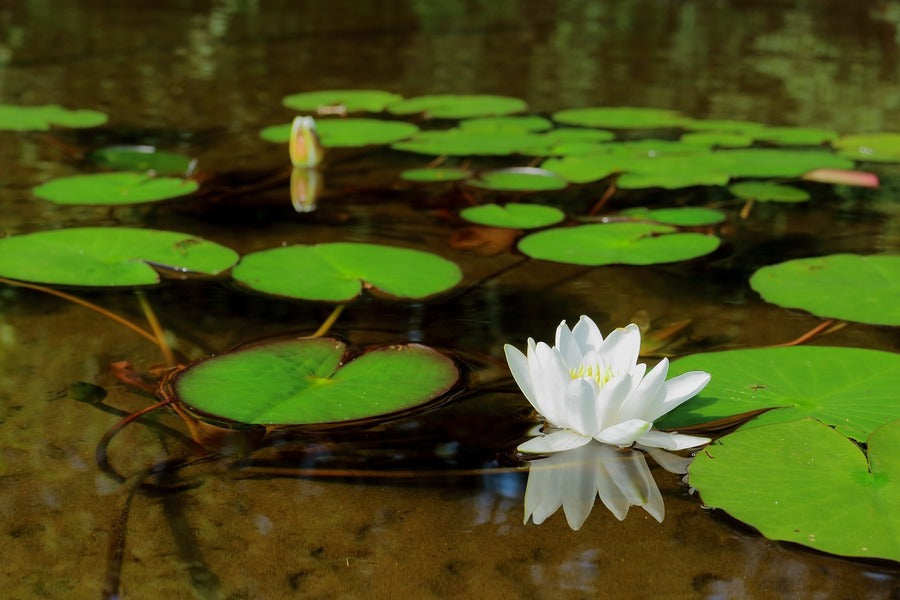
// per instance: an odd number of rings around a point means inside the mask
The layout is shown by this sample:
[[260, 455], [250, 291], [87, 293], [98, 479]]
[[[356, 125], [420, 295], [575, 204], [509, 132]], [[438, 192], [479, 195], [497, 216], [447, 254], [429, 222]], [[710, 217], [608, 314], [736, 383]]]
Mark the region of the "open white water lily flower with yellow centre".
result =
[[709, 383], [709, 373], [691, 371], [666, 381], [669, 361], [664, 358], [647, 372], [647, 366], [637, 362], [640, 348], [641, 332], [634, 323], [604, 339], [586, 316], [571, 330], [565, 321], [560, 323], [553, 347], [528, 338], [526, 356], [506, 344], [513, 378], [550, 425], [545, 435], [519, 445], [519, 451], [560, 452], [592, 439], [666, 450], [709, 442], [653, 429], [656, 419], [700, 392]]

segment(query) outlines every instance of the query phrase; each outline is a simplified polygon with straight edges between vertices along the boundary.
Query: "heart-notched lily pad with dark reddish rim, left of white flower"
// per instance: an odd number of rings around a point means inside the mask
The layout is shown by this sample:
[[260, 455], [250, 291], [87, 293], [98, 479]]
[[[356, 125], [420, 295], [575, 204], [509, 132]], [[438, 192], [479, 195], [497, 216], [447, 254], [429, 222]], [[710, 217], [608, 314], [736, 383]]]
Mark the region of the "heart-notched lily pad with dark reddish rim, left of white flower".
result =
[[369, 419], [434, 400], [459, 379], [448, 357], [418, 344], [380, 347], [343, 363], [335, 339], [269, 343], [196, 363], [174, 381], [188, 408], [257, 425]]

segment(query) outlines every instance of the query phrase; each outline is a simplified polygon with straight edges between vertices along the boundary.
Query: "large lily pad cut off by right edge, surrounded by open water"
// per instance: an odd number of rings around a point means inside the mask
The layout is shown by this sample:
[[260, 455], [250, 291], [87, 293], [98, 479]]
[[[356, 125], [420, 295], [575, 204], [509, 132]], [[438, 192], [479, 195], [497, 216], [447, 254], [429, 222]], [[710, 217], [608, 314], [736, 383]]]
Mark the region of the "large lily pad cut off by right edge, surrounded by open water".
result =
[[789, 260], [759, 269], [750, 286], [767, 302], [820, 317], [900, 325], [900, 255]]

